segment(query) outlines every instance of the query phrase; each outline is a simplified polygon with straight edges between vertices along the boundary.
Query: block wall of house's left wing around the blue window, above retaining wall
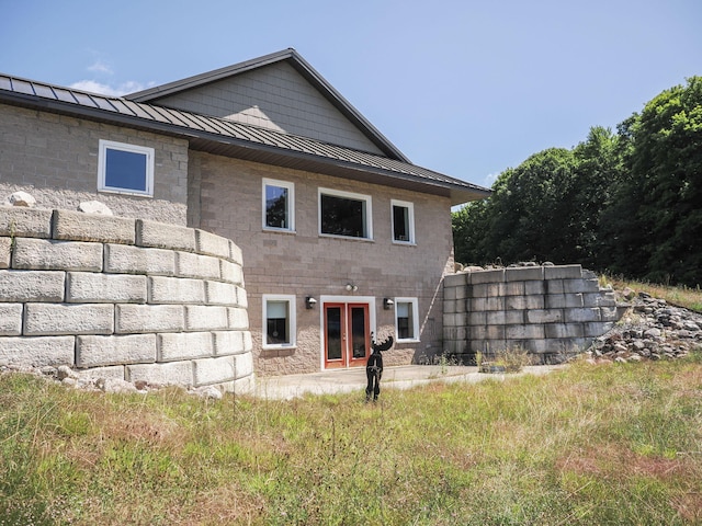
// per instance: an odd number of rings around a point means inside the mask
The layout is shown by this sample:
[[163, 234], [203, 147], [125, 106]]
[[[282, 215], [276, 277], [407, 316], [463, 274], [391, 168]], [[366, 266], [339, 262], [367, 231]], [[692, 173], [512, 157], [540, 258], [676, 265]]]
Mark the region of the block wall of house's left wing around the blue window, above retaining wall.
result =
[[[186, 224], [188, 141], [0, 104], [0, 202], [16, 191], [43, 208], [100, 201], [116, 216]], [[154, 197], [98, 192], [100, 139], [155, 149]]]

